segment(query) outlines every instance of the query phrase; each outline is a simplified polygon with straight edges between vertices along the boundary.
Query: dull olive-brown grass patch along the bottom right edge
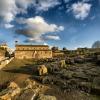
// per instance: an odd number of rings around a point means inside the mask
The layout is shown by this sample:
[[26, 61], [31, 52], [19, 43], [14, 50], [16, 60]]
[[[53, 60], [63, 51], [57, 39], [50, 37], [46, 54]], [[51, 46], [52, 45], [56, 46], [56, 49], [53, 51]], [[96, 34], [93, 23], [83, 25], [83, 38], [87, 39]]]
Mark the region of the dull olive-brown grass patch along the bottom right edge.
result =
[[100, 96], [90, 95], [82, 91], [64, 92], [57, 86], [50, 87], [51, 89], [48, 89], [45, 94], [55, 96], [57, 100], [100, 100]]

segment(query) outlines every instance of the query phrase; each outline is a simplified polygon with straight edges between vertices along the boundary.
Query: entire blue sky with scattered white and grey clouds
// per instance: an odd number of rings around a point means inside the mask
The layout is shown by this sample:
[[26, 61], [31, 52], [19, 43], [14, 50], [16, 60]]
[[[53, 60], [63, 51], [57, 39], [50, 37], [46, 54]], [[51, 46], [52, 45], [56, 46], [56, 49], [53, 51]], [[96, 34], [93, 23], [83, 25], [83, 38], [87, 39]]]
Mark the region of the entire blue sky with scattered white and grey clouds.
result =
[[0, 43], [91, 47], [100, 40], [100, 0], [0, 0]]

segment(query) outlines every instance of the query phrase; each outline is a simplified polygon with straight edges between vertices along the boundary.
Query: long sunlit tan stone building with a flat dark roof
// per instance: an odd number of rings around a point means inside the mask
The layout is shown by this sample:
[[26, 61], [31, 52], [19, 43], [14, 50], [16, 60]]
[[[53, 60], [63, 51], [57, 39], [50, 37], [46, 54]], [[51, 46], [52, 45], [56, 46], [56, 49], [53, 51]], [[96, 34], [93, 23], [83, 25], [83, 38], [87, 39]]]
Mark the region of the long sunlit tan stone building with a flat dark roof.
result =
[[15, 58], [17, 59], [44, 59], [52, 58], [52, 50], [48, 45], [16, 45]]

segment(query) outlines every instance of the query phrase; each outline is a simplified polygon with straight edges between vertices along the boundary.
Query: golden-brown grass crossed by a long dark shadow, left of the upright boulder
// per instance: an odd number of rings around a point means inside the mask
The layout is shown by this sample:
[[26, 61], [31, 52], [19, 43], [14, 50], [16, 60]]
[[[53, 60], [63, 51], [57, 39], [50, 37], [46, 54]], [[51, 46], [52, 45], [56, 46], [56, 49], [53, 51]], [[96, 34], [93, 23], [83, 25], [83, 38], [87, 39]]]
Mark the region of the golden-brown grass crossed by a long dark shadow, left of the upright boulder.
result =
[[14, 59], [5, 68], [0, 70], [0, 85], [6, 83], [7, 81], [17, 80], [17, 79], [19, 80], [19, 77], [21, 79], [21, 76], [22, 78], [29, 77], [30, 74], [32, 73], [31, 68], [34, 65], [35, 65], [35, 62], [33, 60]]

